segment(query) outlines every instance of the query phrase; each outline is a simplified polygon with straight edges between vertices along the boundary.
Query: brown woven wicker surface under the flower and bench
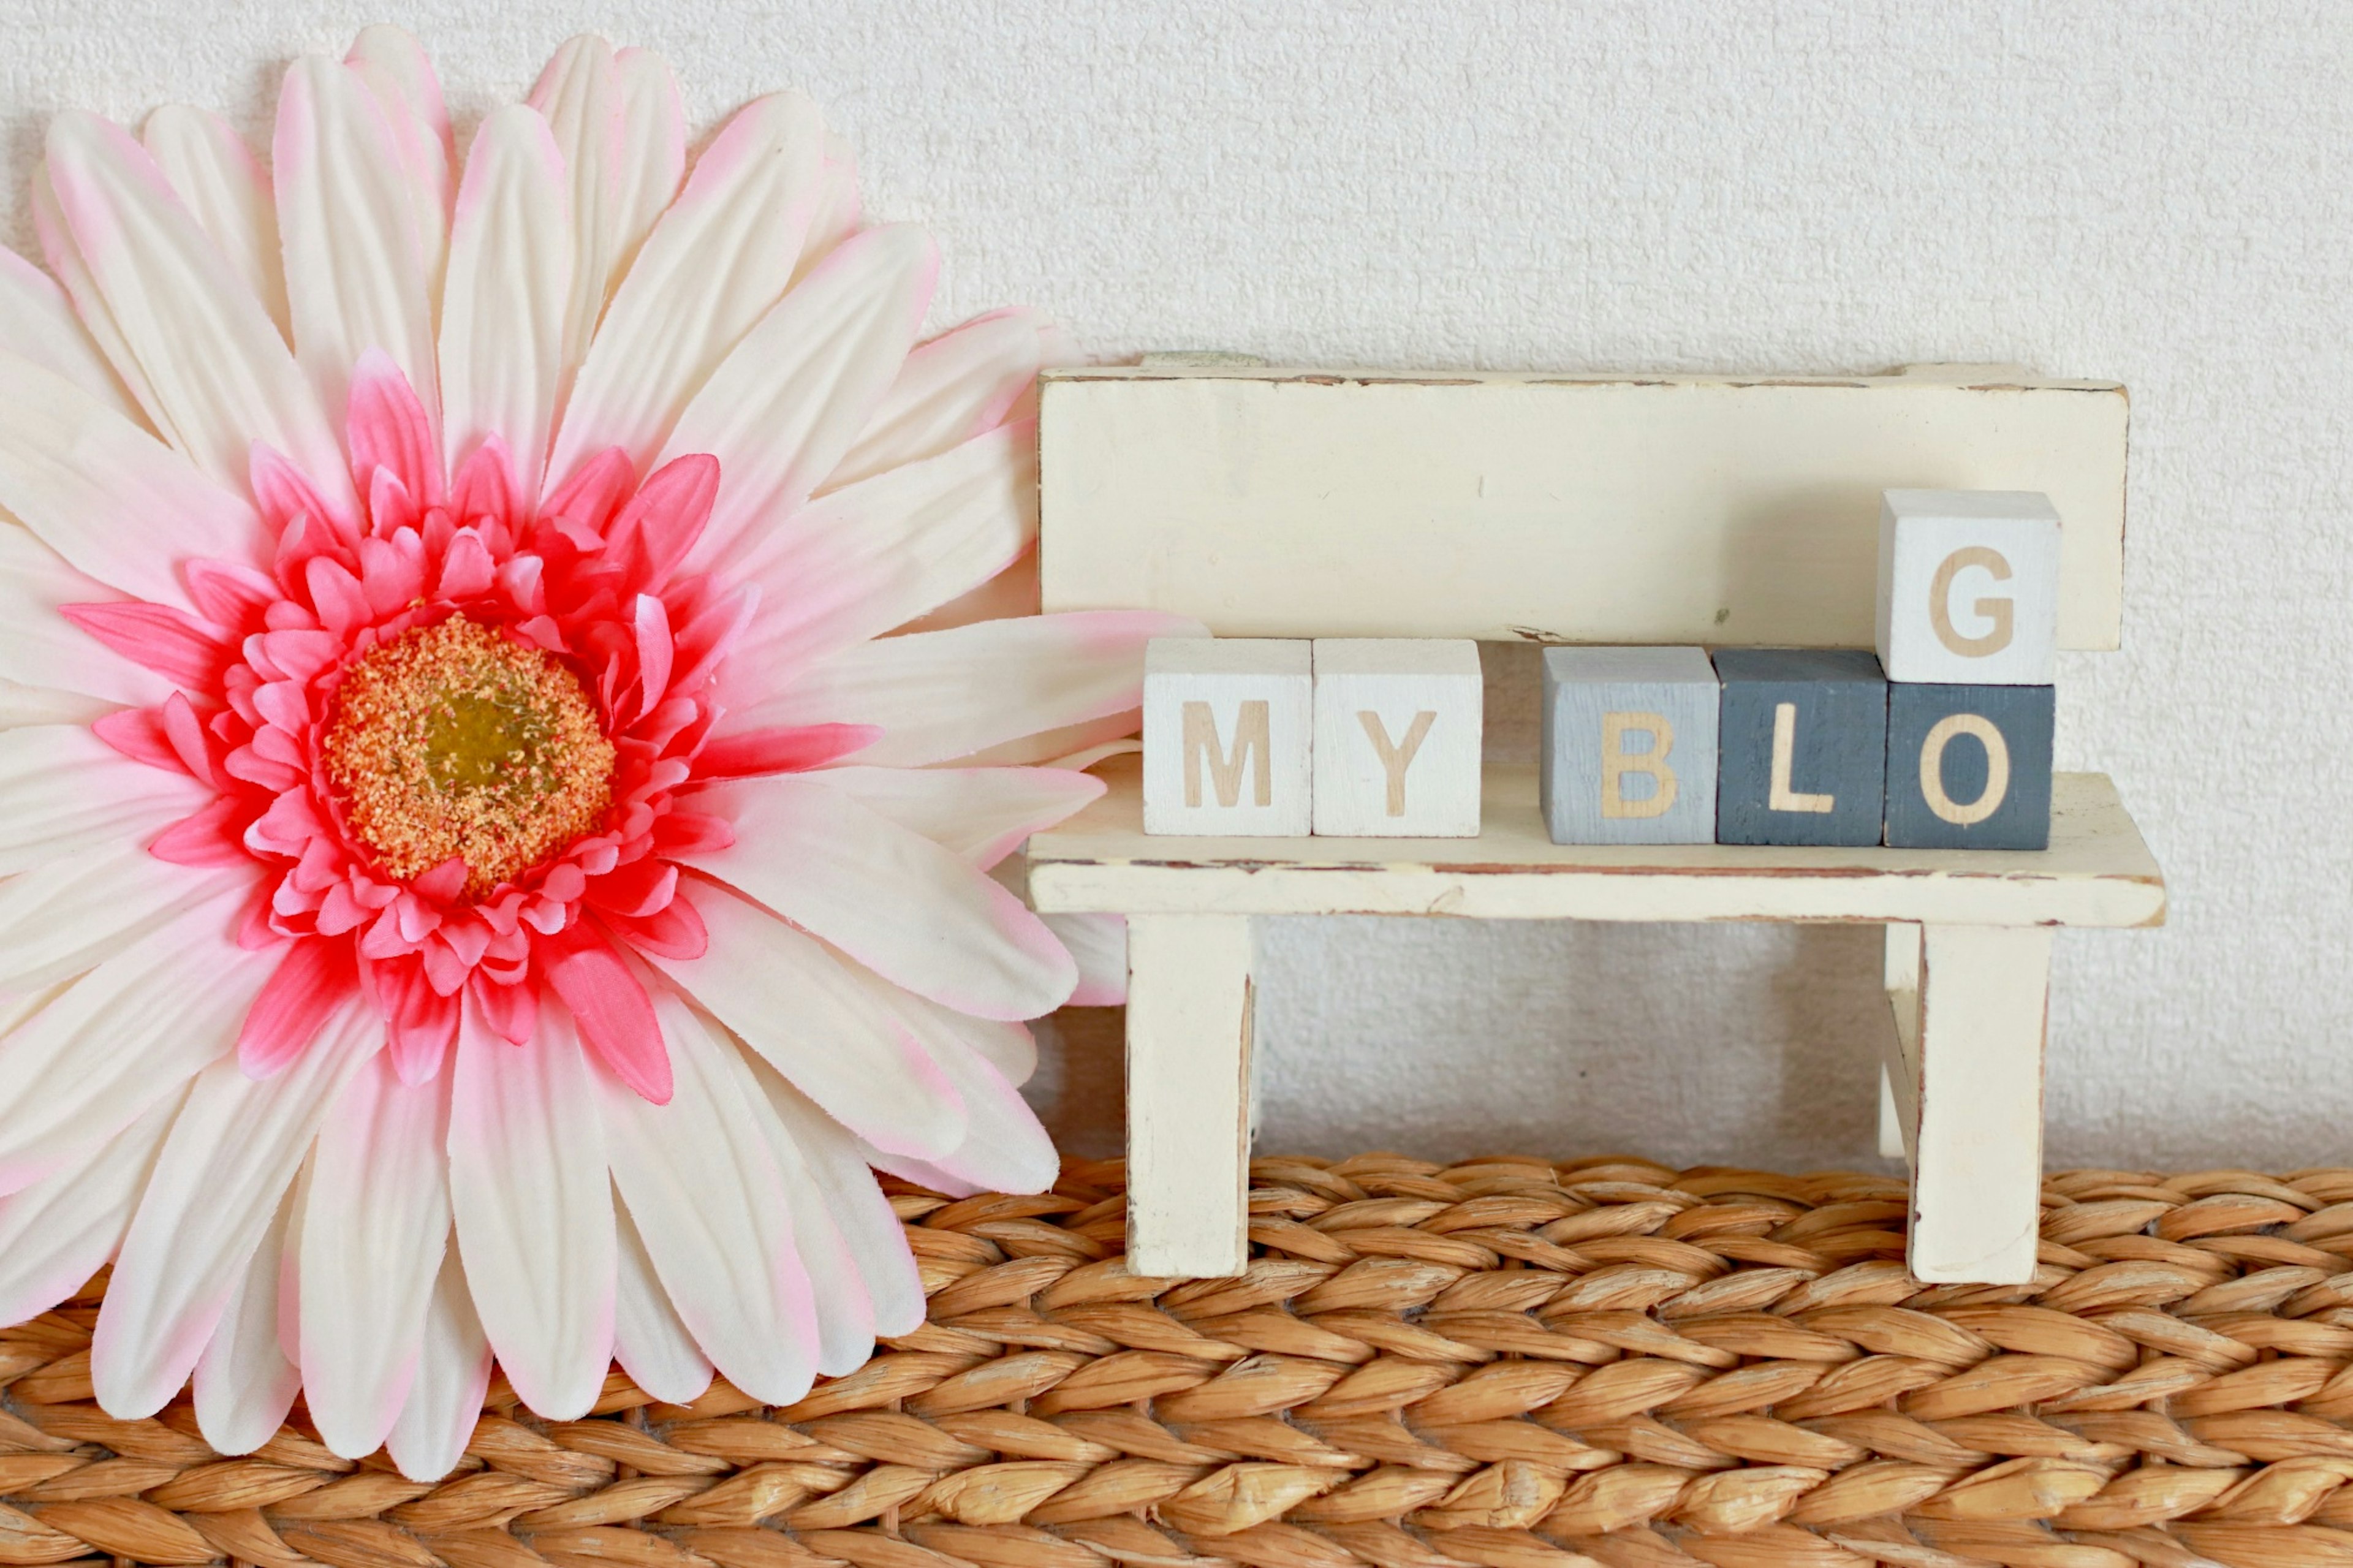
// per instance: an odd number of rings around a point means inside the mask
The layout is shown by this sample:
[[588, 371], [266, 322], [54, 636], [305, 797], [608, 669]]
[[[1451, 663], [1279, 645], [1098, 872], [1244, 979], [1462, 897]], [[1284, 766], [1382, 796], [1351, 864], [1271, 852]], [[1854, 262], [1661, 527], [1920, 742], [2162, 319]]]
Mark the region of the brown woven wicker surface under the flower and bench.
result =
[[932, 1321], [786, 1410], [492, 1384], [440, 1486], [296, 1420], [89, 1403], [0, 1333], [0, 1563], [2353, 1566], [2353, 1170], [2075, 1170], [2031, 1285], [1922, 1288], [1904, 1187], [1605, 1158], [1252, 1165], [1249, 1274], [1129, 1278], [1120, 1165], [899, 1189]]

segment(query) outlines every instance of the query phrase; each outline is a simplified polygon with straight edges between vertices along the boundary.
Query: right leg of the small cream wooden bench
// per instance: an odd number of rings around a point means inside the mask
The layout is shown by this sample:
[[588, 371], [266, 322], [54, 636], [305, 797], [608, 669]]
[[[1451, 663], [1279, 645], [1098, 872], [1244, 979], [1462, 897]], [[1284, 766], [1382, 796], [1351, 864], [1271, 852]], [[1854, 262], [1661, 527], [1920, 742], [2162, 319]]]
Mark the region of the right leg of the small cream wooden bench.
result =
[[2042, 1224], [2040, 925], [1889, 925], [1887, 1088], [1913, 1170], [1911, 1271], [2033, 1278]]

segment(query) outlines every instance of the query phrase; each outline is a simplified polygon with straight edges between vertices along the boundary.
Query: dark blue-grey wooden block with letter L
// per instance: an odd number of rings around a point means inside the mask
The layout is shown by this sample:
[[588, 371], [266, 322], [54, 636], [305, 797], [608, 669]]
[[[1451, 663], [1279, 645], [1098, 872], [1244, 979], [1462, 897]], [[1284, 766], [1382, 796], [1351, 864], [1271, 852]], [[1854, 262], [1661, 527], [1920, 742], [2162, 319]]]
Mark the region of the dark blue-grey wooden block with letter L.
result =
[[1718, 843], [1880, 843], [1887, 678], [1868, 647], [1722, 647]]

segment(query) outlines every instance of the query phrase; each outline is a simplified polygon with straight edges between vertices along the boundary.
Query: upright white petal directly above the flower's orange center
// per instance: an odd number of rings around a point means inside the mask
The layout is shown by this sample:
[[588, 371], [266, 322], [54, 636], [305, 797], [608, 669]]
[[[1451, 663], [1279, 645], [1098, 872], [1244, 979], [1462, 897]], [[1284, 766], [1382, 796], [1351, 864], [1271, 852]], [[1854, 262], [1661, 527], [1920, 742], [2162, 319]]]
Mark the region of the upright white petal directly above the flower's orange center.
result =
[[475, 132], [449, 224], [440, 367], [452, 469], [496, 433], [522, 494], [539, 494], [569, 287], [562, 153], [546, 120], [513, 104]]

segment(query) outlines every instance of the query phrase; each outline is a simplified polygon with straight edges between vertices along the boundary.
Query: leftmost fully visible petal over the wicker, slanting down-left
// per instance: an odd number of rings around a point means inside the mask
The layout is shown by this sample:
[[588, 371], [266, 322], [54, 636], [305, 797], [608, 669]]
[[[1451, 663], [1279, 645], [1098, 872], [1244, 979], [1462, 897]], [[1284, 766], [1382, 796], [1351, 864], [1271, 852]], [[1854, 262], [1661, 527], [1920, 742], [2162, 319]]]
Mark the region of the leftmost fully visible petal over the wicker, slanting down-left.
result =
[[89, 1342], [89, 1384], [108, 1415], [153, 1415], [188, 1382], [327, 1107], [381, 1045], [384, 1019], [353, 998], [275, 1078], [254, 1083], [235, 1059], [198, 1074]]

